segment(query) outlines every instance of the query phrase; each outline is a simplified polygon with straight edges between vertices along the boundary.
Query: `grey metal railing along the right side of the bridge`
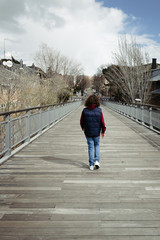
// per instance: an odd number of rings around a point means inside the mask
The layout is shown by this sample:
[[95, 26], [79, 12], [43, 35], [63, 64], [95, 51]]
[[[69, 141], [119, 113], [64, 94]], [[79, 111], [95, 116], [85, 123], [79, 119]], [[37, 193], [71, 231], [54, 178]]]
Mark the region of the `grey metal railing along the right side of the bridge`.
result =
[[153, 107], [126, 105], [102, 99], [102, 104], [132, 120], [160, 133], [160, 111]]

